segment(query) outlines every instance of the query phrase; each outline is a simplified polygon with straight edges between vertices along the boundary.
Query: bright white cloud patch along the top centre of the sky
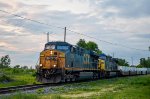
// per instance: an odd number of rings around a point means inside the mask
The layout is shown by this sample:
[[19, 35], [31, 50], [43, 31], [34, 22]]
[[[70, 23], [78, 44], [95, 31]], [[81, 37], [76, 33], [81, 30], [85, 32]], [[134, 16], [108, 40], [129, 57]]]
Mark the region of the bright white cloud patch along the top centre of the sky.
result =
[[46, 5], [49, 11], [70, 11], [74, 14], [83, 14], [91, 11], [89, 0], [30, 0], [28, 5]]

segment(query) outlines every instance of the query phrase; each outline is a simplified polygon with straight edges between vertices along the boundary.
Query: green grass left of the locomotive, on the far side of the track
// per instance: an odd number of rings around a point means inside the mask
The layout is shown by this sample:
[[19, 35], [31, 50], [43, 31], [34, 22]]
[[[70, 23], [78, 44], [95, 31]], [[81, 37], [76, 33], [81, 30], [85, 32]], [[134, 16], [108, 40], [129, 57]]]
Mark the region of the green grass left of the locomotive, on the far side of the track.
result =
[[33, 70], [5, 68], [3, 70], [0, 69], [0, 72], [6, 76], [5, 78], [10, 79], [9, 81], [5, 81], [4, 77], [0, 77], [2, 79], [0, 81], [0, 88], [38, 83], [35, 80]]

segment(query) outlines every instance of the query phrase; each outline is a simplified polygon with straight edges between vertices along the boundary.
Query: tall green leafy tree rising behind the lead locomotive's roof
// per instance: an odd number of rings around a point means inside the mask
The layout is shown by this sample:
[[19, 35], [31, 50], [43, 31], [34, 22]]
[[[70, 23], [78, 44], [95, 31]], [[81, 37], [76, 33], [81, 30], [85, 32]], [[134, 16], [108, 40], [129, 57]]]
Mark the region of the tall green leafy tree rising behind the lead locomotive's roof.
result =
[[82, 47], [82, 48], [85, 48], [87, 50], [95, 51], [97, 54], [102, 53], [102, 51], [98, 48], [98, 45], [93, 41], [89, 41], [89, 42], [86, 43], [86, 41], [84, 39], [80, 39], [77, 42], [77, 45]]

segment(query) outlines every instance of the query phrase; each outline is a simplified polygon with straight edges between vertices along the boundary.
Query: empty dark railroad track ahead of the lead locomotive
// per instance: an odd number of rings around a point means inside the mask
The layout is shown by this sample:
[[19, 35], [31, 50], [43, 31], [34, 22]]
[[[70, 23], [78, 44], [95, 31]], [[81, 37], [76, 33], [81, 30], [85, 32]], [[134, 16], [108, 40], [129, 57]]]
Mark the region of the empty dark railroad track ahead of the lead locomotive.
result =
[[0, 94], [7, 94], [7, 93], [13, 93], [16, 91], [25, 91], [25, 90], [33, 90], [37, 88], [43, 88], [43, 87], [48, 87], [48, 86], [58, 86], [61, 84], [50, 84], [50, 83], [45, 83], [45, 84], [33, 84], [33, 85], [20, 85], [20, 86], [11, 86], [7, 88], [0, 88]]

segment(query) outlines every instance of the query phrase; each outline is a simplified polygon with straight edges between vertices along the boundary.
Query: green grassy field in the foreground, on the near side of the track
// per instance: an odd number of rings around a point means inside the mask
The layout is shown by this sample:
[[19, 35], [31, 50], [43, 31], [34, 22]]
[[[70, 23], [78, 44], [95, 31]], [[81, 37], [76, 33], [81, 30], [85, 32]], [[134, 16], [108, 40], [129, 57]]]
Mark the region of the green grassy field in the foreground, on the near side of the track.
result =
[[150, 75], [103, 79], [37, 89], [33, 94], [18, 93], [2, 99], [150, 99]]

